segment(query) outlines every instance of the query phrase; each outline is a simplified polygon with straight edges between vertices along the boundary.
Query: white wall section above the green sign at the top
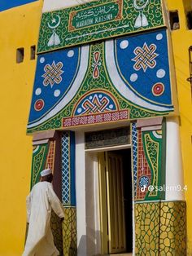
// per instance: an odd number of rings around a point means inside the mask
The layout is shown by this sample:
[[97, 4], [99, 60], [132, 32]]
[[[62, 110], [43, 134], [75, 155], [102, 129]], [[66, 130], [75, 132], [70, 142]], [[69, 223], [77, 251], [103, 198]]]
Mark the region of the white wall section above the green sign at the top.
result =
[[94, 0], [44, 0], [42, 12], [74, 7]]

